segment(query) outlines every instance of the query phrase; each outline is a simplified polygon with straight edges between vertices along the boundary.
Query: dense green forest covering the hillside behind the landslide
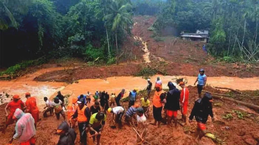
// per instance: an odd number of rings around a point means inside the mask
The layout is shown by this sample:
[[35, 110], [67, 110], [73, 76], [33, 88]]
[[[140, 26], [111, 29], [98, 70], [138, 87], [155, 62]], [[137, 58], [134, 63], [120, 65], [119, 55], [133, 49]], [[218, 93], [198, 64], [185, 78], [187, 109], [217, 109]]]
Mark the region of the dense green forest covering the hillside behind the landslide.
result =
[[255, 0], [0, 0], [1, 67], [62, 57], [115, 63], [134, 15], [156, 15], [156, 35], [166, 26], [209, 30], [212, 55], [257, 61], [258, 6]]

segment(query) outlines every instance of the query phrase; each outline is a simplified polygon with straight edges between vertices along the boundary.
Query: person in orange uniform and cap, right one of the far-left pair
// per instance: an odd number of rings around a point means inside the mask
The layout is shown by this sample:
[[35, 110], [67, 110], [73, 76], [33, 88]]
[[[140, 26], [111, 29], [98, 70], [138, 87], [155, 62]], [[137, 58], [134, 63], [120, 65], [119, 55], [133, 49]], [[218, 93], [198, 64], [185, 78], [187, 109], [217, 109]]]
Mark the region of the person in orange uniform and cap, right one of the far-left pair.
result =
[[39, 121], [39, 109], [37, 107], [36, 99], [35, 97], [31, 97], [30, 93], [25, 93], [25, 97], [27, 98], [25, 105], [26, 105], [26, 113], [30, 113], [32, 117], [34, 118], [34, 125], [35, 128], [37, 126], [37, 122]]

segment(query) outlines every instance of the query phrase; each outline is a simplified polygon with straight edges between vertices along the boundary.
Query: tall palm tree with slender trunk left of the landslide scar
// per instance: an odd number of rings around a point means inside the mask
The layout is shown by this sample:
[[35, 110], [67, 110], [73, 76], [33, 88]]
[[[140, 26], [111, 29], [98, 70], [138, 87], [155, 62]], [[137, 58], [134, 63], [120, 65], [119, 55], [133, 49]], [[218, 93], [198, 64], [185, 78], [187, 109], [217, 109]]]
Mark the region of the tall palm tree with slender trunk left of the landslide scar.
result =
[[132, 5], [125, 0], [112, 0], [110, 3], [109, 11], [105, 19], [112, 22], [112, 31], [115, 32], [115, 41], [116, 41], [116, 64], [118, 65], [118, 31], [128, 29], [132, 25], [131, 11]]

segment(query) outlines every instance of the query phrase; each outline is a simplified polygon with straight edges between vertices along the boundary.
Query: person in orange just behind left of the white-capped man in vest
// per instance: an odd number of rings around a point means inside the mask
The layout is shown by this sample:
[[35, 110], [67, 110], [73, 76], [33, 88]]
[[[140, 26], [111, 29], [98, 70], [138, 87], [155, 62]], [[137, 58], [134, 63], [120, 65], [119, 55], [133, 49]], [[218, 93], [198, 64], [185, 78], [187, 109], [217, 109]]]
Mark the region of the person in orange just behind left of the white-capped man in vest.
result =
[[[70, 119], [72, 117], [72, 115], [76, 112], [76, 109], [78, 107], [77, 105], [77, 98], [73, 98], [72, 99], [72, 104], [69, 104], [67, 107], [67, 118]], [[77, 122], [77, 118], [68, 120], [70, 127], [75, 128], [76, 122]]]

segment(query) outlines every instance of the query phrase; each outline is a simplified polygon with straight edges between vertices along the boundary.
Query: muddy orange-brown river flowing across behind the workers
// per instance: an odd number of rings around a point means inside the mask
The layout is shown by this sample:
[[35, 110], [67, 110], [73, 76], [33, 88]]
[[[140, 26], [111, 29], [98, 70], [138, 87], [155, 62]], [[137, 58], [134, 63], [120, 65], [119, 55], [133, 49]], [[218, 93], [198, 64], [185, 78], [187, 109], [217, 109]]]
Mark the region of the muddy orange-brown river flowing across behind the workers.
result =
[[[11, 81], [0, 81], [0, 91], [5, 91], [10, 94], [19, 94], [22, 100], [25, 101], [24, 94], [30, 92], [33, 96], [36, 96], [38, 106], [44, 107], [44, 96], [55, 96], [58, 90], [61, 90], [63, 94], [72, 94], [71, 96], [78, 96], [85, 94], [87, 91], [94, 93], [98, 91], [107, 91], [109, 93], [118, 94], [122, 88], [125, 88], [128, 92], [133, 88], [139, 90], [144, 89], [147, 86], [147, 81], [142, 77], [110, 77], [104, 79], [83, 79], [79, 80], [79, 83], [66, 84], [56, 82], [35, 82], [33, 79], [36, 76], [47, 73], [53, 70], [62, 70], [64, 68], [48, 68], [41, 69], [33, 74], [29, 74]], [[157, 76], [151, 78], [154, 84]], [[187, 85], [193, 85], [196, 77], [192, 76], [177, 76], [177, 78], [185, 77], [188, 80]], [[168, 81], [174, 81], [172, 79], [176, 76], [160, 76], [163, 82], [163, 88], [167, 88]], [[237, 77], [208, 77], [207, 84], [211, 86], [229, 87], [238, 90], [256, 90], [259, 89], [259, 77], [254, 78], [237, 78]], [[6, 99], [8, 102], [10, 99]]]

